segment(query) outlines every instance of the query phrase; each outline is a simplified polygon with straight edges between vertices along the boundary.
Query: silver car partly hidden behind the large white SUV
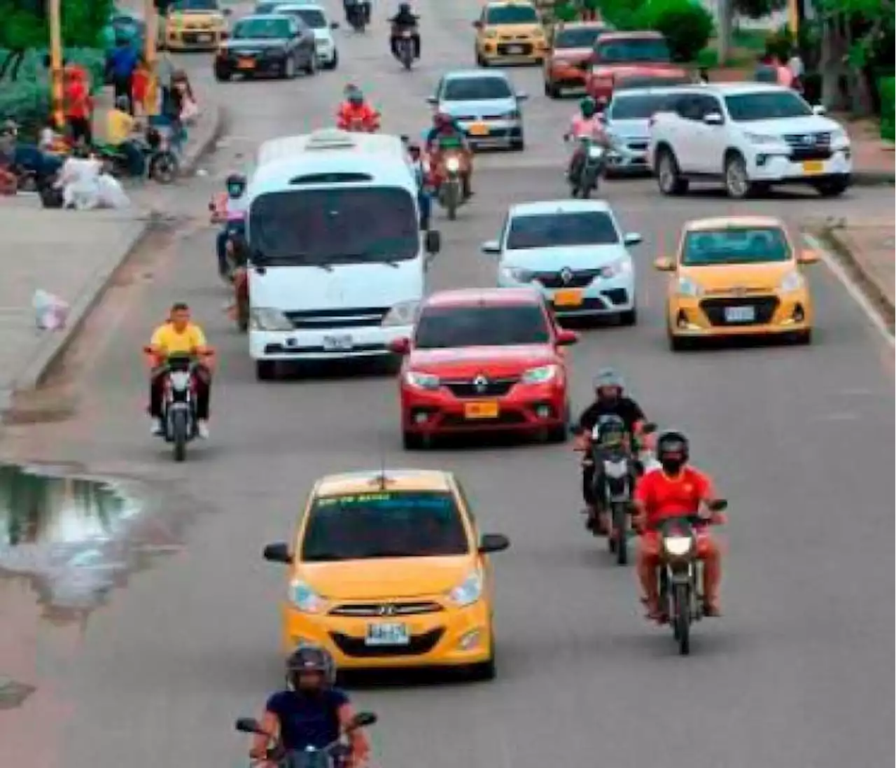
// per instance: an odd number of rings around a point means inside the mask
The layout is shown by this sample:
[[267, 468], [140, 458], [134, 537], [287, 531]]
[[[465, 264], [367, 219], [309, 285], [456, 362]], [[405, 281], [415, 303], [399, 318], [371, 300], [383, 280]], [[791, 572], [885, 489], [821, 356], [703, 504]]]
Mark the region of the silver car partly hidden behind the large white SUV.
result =
[[610, 152], [607, 171], [649, 173], [647, 146], [650, 143], [650, 118], [668, 108], [670, 99], [680, 91], [676, 86], [632, 88], [615, 91], [604, 112], [604, 122], [626, 153]]

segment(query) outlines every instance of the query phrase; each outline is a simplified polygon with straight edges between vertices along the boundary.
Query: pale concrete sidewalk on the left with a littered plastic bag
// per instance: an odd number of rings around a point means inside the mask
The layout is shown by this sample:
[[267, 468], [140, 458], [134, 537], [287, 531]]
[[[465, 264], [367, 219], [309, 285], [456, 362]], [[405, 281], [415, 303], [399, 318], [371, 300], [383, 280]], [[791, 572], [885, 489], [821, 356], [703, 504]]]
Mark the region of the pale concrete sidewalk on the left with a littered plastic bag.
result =
[[[220, 130], [220, 109], [207, 109], [185, 147], [183, 176], [194, 172]], [[38, 386], [62, 356], [170, 194], [152, 182], [127, 192], [133, 207], [125, 211], [50, 211], [36, 195], [0, 198], [0, 416], [14, 393]], [[38, 330], [32, 307], [38, 289], [70, 305], [65, 328]]]

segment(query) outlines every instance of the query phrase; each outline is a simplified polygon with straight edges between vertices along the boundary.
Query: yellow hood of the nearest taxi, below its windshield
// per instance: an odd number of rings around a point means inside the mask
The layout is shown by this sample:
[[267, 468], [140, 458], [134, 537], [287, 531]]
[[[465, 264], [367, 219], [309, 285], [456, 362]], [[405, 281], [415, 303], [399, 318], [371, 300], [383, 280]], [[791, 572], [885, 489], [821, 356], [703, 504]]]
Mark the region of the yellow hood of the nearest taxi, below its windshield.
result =
[[472, 555], [383, 557], [299, 563], [294, 575], [326, 600], [393, 600], [451, 591], [474, 564]]

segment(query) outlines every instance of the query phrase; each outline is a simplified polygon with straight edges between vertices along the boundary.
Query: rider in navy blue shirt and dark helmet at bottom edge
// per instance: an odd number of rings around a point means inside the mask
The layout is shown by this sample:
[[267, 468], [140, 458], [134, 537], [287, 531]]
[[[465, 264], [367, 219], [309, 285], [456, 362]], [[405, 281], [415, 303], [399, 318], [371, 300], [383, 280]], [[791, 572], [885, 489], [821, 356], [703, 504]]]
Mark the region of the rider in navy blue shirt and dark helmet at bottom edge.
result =
[[[308, 746], [322, 749], [340, 737], [342, 729], [355, 715], [349, 696], [333, 686], [336, 665], [326, 649], [317, 645], [300, 646], [286, 664], [287, 687], [271, 695], [264, 705], [262, 728], [280, 738], [289, 752]], [[270, 738], [254, 736], [249, 755], [264, 760]], [[370, 746], [364, 732], [349, 733], [349, 768], [364, 764]]]

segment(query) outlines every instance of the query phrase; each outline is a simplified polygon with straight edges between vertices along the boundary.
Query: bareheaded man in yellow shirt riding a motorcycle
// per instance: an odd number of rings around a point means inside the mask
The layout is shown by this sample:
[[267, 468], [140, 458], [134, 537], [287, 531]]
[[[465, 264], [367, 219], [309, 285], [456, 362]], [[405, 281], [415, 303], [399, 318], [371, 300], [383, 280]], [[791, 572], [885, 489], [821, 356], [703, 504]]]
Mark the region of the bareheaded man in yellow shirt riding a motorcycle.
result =
[[195, 370], [196, 429], [202, 439], [209, 436], [209, 394], [211, 390], [211, 350], [205, 333], [190, 321], [190, 307], [184, 302], [171, 306], [168, 320], [152, 333], [150, 341], [152, 373], [150, 378], [150, 417], [153, 435], [162, 435], [162, 386], [168, 375], [169, 355], [193, 355]]

